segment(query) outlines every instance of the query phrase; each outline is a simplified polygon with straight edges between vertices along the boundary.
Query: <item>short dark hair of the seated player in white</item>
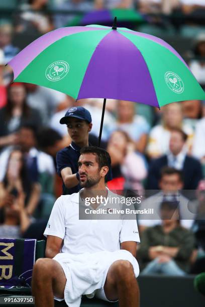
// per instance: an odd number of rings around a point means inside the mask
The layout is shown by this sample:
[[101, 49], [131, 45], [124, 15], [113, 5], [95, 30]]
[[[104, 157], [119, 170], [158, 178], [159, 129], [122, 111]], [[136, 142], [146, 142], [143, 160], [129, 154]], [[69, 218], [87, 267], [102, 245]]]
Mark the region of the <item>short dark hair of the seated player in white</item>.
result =
[[101, 169], [104, 166], [111, 167], [111, 157], [105, 149], [102, 149], [97, 146], [86, 146], [81, 148], [80, 154], [93, 154], [96, 156], [97, 163], [99, 165], [99, 169]]

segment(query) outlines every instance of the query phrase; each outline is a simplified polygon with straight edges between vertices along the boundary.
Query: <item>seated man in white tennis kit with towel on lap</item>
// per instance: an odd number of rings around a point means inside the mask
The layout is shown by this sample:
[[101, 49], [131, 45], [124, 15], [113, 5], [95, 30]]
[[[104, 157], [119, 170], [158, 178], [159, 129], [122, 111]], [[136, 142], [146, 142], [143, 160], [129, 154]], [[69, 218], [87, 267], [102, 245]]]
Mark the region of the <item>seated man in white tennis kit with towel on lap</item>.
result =
[[[34, 265], [36, 306], [54, 306], [55, 296], [65, 299], [69, 307], [78, 307], [81, 295], [86, 294], [107, 301], [119, 299], [122, 307], [138, 307], [139, 266], [135, 255], [140, 239], [136, 219], [79, 219], [79, 209], [87, 207], [79, 200], [86, 201], [99, 192], [105, 199], [112, 195], [105, 186], [111, 164], [108, 152], [89, 146], [80, 154], [79, 177], [84, 189], [62, 195], [54, 204], [44, 232], [47, 258], [38, 259]], [[89, 210], [101, 207], [105, 204], [98, 206], [95, 202]]]

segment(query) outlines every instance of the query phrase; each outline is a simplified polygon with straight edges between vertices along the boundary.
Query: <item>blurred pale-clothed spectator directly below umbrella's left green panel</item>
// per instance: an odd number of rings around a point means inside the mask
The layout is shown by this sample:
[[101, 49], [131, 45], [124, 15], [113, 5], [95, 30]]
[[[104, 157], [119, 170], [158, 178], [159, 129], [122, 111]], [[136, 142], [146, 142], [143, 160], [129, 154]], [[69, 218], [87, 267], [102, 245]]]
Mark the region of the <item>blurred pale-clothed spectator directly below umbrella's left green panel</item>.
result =
[[64, 104], [66, 95], [51, 88], [25, 83], [28, 90], [27, 102], [41, 113], [43, 124], [48, 125], [51, 117]]

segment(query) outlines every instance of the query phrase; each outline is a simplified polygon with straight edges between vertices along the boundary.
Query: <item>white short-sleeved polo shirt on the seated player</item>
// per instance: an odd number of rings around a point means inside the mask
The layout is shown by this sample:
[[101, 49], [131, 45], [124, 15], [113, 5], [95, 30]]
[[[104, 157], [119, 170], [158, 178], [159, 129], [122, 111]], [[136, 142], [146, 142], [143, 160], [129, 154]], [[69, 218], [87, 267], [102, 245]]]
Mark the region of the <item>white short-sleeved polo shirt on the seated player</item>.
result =
[[116, 251], [122, 242], [140, 242], [136, 220], [79, 220], [79, 192], [56, 200], [44, 235], [63, 239], [61, 252], [70, 254]]

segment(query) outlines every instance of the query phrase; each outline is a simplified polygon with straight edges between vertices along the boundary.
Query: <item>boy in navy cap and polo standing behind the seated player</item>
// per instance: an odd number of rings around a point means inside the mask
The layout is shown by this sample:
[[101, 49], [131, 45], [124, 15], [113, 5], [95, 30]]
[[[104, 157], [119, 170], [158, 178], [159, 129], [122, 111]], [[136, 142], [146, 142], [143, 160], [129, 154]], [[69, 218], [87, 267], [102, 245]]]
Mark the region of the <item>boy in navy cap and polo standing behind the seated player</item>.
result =
[[[60, 123], [66, 124], [71, 144], [58, 151], [56, 156], [57, 172], [63, 179], [63, 195], [77, 193], [80, 190], [77, 161], [80, 157], [80, 148], [88, 146], [88, 133], [91, 131], [91, 115], [83, 107], [68, 109]], [[109, 180], [112, 179], [109, 173]]]

